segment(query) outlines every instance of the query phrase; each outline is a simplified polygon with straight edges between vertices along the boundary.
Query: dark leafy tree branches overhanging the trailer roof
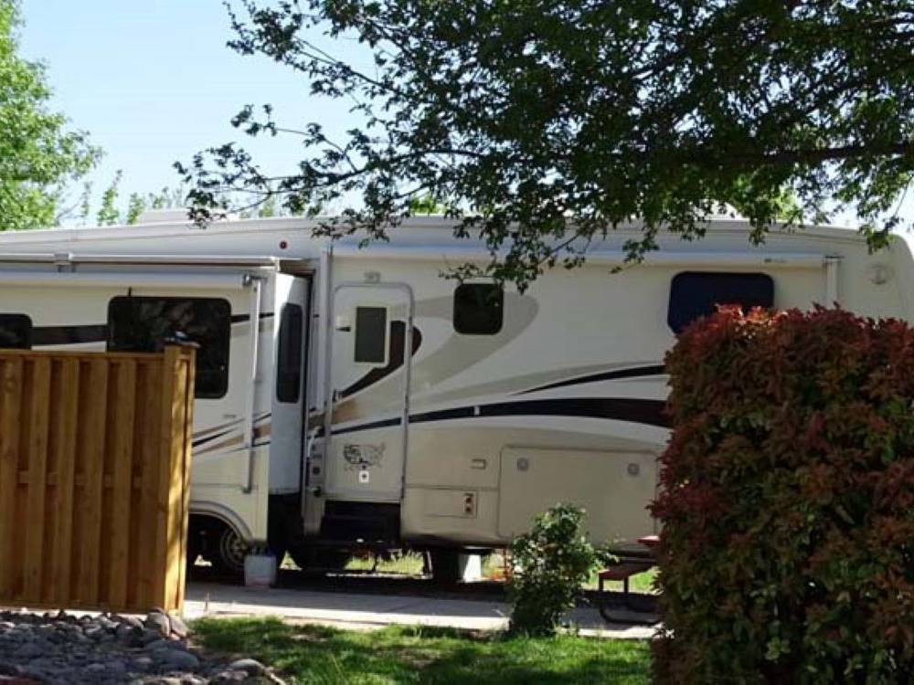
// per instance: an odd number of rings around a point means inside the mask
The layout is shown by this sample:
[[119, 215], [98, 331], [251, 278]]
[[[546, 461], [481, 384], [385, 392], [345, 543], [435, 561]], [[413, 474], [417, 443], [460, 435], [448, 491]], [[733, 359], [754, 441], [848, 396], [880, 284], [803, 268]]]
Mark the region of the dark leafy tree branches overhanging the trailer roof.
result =
[[[298, 135], [299, 171], [272, 177], [229, 143], [177, 164], [197, 217], [239, 188], [289, 208], [345, 200], [332, 236], [383, 237], [431, 195], [506, 248], [484, 269], [522, 287], [578, 265], [592, 240], [637, 217], [630, 258], [661, 230], [701, 237], [723, 205], [760, 241], [853, 210], [873, 248], [901, 223], [914, 171], [910, 0], [257, 0], [228, 3], [241, 54], [300, 72], [364, 123], [331, 140], [270, 106], [234, 124]], [[346, 38], [339, 55], [326, 37]], [[363, 68], [349, 46], [373, 57]], [[352, 198], [356, 198], [353, 201]], [[785, 202], [795, 198], [795, 202]], [[466, 273], [464, 270], [463, 273]]]

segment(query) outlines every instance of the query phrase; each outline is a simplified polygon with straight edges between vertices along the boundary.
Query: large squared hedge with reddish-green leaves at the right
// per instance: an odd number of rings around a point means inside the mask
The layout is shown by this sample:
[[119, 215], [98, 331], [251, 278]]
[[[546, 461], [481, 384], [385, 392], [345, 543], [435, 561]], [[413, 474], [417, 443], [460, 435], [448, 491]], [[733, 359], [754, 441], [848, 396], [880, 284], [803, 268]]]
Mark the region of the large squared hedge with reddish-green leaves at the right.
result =
[[666, 368], [656, 680], [914, 680], [914, 332], [724, 310]]

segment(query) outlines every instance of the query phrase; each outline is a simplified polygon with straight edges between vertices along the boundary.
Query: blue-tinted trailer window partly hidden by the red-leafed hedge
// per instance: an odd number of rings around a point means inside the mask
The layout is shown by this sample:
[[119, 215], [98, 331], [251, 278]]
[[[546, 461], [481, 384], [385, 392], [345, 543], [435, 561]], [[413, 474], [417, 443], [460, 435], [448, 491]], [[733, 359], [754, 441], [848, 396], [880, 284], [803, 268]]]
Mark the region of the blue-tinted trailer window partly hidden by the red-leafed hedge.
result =
[[699, 317], [713, 314], [717, 305], [739, 304], [744, 310], [774, 306], [774, 281], [764, 273], [685, 271], [670, 286], [666, 322], [681, 332]]

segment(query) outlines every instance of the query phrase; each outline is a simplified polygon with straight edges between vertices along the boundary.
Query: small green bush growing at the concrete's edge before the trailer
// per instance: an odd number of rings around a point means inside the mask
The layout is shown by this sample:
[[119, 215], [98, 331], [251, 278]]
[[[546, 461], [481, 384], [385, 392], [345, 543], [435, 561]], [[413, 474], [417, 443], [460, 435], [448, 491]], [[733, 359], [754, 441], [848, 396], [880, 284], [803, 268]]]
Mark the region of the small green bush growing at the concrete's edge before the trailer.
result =
[[562, 614], [574, 607], [602, 555], [581, 530], [584, 516], [572, 504], [558, 504], [539, 514], [530, 532], [511, 544], [512, 632], [555, 633]]

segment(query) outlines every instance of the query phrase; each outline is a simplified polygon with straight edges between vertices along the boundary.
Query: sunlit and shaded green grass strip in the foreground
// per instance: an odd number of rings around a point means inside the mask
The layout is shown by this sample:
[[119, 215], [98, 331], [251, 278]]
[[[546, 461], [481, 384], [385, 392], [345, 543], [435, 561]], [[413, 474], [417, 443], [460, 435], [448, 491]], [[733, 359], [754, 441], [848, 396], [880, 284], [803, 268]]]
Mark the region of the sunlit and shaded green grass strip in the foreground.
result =
[[640, 640], [507, 638], [430, 627], [357, 632], [277, 618], [197, 620], [197, 641], [259, 659], [299, 683], [647, 683]]

